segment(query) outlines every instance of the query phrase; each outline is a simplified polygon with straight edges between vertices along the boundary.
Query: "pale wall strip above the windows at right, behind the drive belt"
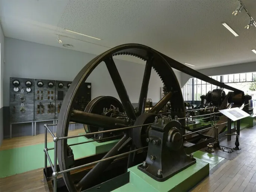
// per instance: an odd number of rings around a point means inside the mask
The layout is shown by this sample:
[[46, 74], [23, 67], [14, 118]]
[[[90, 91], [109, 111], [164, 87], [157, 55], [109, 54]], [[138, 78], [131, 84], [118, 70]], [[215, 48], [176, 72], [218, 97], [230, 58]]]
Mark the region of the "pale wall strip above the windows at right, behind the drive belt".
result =
[[[236, 65], [227, 65], [227, 66], [220, 66], [208, 69], [200, 69], [197, 70], [200, 73], [203, 73], [207, 76], [214, 76], [214, 75], [228, 75], [228, 74], [236, 74], [236, 73], [246, 73], [246, 72], [255, 72], [256, 71], [256, 61], [250, 63], [243, 63], [243, 64], [236, 64]], [[191, 78], [190, 75], [187, 75], [181, 72], [181, 87], [183, 87], [186, 82]]]

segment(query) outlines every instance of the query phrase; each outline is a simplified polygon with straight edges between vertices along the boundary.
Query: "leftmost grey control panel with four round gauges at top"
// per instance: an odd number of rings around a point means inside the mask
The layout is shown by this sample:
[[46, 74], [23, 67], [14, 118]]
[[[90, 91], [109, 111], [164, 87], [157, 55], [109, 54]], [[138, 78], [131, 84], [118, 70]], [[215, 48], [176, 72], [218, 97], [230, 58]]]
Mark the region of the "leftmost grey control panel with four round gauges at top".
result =
[[34, 120], [34, 80], [10, 78], [10, 122]]

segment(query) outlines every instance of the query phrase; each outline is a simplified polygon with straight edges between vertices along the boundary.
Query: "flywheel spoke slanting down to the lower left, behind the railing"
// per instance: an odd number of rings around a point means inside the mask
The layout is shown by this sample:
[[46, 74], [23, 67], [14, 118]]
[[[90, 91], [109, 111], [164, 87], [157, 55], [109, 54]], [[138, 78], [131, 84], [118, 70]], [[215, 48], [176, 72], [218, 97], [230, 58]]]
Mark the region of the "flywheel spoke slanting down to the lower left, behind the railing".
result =
[[[102, 159], [119, 154], [120, 149], [127, 145], [129, 143], [127, 141], [129, 140], [129, 134], [124, 134], [122, 139], [120, 139], [120, 141]], [[81, 191], [81, 188], [89, 188], [93, 181], [95, 181], [95, 179], [97, 179], [97, 177], [103, 173], [103, 171], [111, 164], [112, 161], [113, 159], [110, 159], [96, 164], [95, 167], [93, 167], [92, 170], [90, 170], [89, 173], [87, 173], [86, 176], [84, 176], [83, 179], [77, 183], [76, 188], [79, 189], [79, 191]]]

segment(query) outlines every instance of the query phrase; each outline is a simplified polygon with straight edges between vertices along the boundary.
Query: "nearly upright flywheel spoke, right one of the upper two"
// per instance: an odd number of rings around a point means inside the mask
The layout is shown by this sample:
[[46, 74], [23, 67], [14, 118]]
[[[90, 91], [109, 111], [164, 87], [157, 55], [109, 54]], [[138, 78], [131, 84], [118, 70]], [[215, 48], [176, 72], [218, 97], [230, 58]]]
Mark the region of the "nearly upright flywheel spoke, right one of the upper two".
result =
[[145, 66], [144, 76], [141, 86], [141, 94], [139, 95], [138, 114], [142, 114], [145, 111], [146, 97], [148, 95], [148, 84], [150, 80], [152, 69], [152, 58], [148, 59]]

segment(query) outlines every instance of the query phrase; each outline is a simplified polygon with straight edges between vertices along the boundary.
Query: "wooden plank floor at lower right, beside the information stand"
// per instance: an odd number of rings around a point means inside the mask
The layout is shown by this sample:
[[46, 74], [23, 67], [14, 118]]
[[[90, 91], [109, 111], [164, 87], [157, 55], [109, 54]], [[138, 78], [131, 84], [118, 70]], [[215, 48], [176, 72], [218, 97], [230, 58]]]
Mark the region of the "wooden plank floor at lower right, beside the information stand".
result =
[[240, 146], [240, 155], [226, 161], [192, 192], [256, 192], [256, 126], [241, 131]]

